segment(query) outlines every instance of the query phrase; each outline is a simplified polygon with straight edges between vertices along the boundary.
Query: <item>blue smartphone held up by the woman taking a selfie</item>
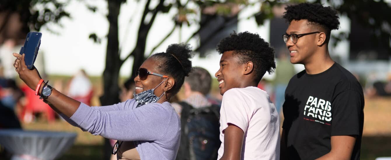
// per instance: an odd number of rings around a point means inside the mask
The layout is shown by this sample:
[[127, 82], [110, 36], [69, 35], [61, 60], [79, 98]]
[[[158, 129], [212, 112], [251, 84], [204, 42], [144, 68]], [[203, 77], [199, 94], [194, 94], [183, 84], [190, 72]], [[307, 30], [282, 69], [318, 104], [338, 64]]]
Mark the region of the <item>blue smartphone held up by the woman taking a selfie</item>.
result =
[[27, 34], [25, 44], [20, 48], [19, 54], [25, 53], [25, 63], [31, 69], [38, 55], [39, 45], [41, 45], [42, 33], [30, 32]]

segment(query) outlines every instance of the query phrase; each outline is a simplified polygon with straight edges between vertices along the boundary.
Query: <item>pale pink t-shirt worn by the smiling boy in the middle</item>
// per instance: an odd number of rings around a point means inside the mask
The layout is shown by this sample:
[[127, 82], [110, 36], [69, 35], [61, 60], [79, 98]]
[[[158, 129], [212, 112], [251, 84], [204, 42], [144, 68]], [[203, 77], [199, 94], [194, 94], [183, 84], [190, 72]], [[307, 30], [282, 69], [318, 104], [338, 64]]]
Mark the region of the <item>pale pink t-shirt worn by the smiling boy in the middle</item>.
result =
[[280, 159], [280, 119], [269, 95], [257, 87], [233, 88], [224, 93], [220, 110], [218, 159], [224, 153], [228, 123], [244, 132], [242, 160]]

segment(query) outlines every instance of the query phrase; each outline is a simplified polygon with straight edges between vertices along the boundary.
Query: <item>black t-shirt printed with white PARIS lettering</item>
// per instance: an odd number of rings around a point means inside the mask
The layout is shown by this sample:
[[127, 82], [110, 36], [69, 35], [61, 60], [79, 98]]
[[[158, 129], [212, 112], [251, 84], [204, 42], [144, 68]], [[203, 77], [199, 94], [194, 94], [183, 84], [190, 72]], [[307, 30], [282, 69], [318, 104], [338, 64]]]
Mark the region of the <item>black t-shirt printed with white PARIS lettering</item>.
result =
[[294, 75], [283, 104], [287, 157], [314, 160], [330, 152], [331, 136], [356, 135], [351, 159], [359, 160], [363, 110], [360, 83], [339, 64], [316, 75]]

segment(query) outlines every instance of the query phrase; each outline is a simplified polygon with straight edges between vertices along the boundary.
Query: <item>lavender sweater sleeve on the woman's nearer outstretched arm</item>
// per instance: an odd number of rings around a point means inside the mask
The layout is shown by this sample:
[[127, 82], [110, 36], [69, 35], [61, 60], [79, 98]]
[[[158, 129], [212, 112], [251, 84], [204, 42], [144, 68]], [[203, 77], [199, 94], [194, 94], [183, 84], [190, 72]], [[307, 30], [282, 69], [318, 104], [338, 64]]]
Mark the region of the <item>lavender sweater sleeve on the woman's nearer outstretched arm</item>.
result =
[[82, 130], [109, 139], [158, 140], [166, 133], [172, 113], [160, 103], [111, 111], [93, 109], [81, 103], [70, 120]]

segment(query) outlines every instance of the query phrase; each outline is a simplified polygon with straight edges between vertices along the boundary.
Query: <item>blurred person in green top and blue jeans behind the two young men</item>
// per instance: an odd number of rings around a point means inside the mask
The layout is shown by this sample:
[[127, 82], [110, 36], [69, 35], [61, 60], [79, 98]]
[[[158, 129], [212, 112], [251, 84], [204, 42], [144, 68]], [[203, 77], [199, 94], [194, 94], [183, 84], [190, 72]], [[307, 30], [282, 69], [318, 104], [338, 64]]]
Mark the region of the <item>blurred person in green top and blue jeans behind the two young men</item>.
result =
[[286, 48], [280, 48], [278, 52], [277, 67], [276, 67], [276, 77], [273, 81], [274, 83], [274, 104], [276, 104], [276, 109], [278, 114], [282, 104], [285, 101], [285, 89], [287, 88], [289, 80], [293, 75], [296, 74], [293, 64], [288, 59]]

